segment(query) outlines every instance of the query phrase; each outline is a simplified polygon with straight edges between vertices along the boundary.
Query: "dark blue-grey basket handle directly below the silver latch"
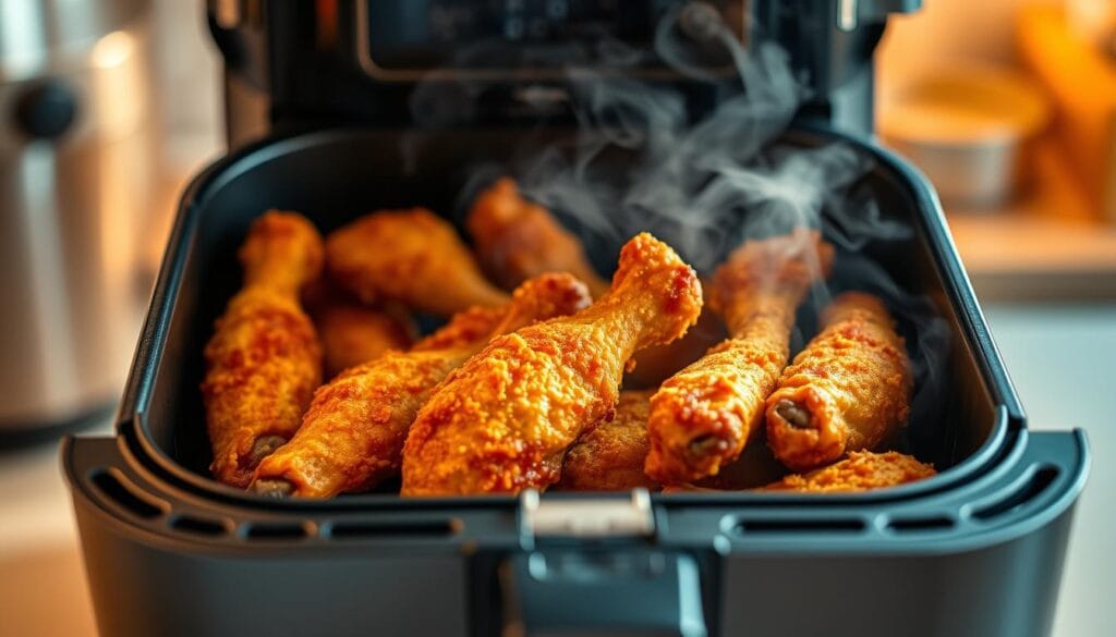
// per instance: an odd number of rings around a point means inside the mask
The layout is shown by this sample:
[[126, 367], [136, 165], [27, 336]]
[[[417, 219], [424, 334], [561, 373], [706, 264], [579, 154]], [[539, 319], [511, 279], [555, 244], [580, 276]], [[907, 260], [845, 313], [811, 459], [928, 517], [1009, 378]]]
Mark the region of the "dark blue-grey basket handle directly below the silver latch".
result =
[[650, 549], [537, 550], [501, 567], [502, 637], [705, 637], [698, 562]]

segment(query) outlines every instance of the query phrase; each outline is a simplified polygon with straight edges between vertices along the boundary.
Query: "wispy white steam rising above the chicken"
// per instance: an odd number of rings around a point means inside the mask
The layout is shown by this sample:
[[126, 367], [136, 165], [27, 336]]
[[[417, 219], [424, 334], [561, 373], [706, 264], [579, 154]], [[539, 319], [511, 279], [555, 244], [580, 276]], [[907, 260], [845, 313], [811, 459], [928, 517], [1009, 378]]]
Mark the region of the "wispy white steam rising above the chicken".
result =
[[[807, 96], [786, 51], [772, 44], [748, 51], [720, 19], [702, 21], [695, 44], [685, 37], [683, 18], [675, 10], [660, 23], [660, 58], [693, 79], [739, 79], [743, 90], [695, 115], [681, 90], [569, 69], [577, 134], [570, 145], [548, 147], [518, 167], [529, 197], [599, 244], [651, 231], [703, 274], [748, 238], [820, 226], [822, 210], [834, 239], [849, 250], [908, 234], [884, 221], [872, 201], [848, 196], [873, 167], [863, 154], [843, 144], [771, 146]], [[711, 48], [716, 55], [709, 55]], [[633, 57], [608, 58], [606, 67]], [[723, 64], [701, 62], [710, 57]]]

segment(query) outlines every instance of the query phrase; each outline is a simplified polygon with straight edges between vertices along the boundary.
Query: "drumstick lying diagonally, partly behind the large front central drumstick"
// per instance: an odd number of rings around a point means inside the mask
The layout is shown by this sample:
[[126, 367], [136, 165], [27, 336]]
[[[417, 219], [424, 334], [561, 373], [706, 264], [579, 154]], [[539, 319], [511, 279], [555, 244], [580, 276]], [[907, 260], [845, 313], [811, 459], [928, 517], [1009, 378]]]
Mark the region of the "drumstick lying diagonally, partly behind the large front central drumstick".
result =
[[543, 274], [516, 290], [499, 325], [471, 341], [460, 324], [444, 328], [444, 349], [391, 351], [354, 367], [318, 389], [290, 443], [260, 463], [253, 490], [269, 495], [330, 498], [365, 491], [398, 474], [403, 442], [430, 392], [475, 354], [488, 337], [589, 305], [585, 286], [569, 274]]

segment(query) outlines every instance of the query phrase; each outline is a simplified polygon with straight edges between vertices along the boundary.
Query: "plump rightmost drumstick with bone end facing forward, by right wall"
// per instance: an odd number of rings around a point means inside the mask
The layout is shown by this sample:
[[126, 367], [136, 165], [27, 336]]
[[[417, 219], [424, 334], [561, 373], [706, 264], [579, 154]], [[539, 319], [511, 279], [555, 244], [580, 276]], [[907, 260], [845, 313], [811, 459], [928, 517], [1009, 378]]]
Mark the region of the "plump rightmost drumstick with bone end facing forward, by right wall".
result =
[[767, 399], [768, 444], [795, 471], [889, 438], [911, 408], [911, 363], [884, 303], [846, 292]]

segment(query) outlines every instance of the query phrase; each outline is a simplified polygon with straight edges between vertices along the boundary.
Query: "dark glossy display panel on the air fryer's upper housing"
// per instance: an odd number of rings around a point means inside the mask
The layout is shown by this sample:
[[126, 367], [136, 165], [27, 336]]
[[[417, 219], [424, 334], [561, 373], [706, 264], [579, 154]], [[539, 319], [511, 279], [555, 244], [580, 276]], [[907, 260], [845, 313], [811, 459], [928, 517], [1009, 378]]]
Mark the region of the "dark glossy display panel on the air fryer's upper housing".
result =
[[[660, 46], [685, 47], [701, 66], [731, 59], [721, 35], [742, 41], [748, 0], [411, 0], [358, 4], [362, 67], [379, 80], [433, 70], [546, 77], [570, 67], [665, 74]], [[673, 18], [673, 19], [670, 19]]]

